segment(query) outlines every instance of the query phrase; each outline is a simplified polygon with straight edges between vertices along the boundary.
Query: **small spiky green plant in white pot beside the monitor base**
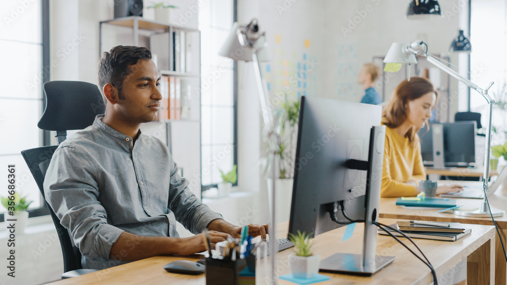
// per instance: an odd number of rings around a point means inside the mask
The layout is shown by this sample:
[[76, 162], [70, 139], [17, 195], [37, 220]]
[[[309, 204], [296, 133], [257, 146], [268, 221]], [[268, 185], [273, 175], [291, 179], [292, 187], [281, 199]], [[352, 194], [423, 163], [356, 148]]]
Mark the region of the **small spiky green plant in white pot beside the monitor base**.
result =
[[320, 255], [312, 254], [312, 244], [310, 236], [305, 232], [301, 233], [298, 230], [298, 235], [289, 233], [288, 239], [291, 240], [296, 251], [294, 255], [289, 255], [288, 260], [291, 264], [291, 272], [294, 277], [298, 278], [311, 278], [318, 273], [320, 265]]

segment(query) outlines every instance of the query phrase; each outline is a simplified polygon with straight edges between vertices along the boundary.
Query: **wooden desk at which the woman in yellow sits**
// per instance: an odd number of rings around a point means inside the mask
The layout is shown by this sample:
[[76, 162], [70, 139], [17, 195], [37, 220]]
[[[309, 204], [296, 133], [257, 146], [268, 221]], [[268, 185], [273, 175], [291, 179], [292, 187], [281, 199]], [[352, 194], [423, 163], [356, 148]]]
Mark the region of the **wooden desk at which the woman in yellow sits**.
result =
[[[449, 180], [441, 181], [442, 183], [451, 183]], [[439, 183], [441, 183], [439, 181]], [[474, 182], [456, 181], [457, 184], [466, 186]], [[475, 182], [478, 183], [478, 182]], [[489, 197], [491, 207], [501, 210], [507, 210], [507, 194], [503, 189], [497, 189], [496, 192]], [[424, 221], [437, 221], [437, 222], [458, 222], [465, 224], [478, 224], [478, 225], [493, 225], [491, 218], [473, 218], [461, 217], [449, 213], [437, 213], [438, 210], [424, 210], [424, 209], [405, 209], [402, 206], [396, 206], [395, 201], [397, 198], [381, 198], [380, 199], [380, 218], [389, 219], [404, 219], [404, 220], [424, 220]], [[463, 205], [466, 208], [479, 208], [482, 199], [455, 199], [456, 205]], [[506, 284], [507, 276], [507, 263], [502, 253], [500, 239], [503, 245], [507, 247], [507, 215], [495, 218], [496, 225], [500, 231], [500, 236], [496, 234], [495, 245], [495, 284]], [[496, 231], [495, 231], [496, 232]]]

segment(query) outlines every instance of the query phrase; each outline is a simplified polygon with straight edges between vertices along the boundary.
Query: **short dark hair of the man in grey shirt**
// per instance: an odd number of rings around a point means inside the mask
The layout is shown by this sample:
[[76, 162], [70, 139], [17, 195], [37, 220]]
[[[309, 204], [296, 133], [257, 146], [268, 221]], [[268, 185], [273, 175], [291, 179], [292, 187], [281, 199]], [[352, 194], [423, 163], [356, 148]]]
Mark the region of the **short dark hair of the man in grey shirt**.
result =
[[133, 46], [117, 46], [109, 52], [104, 52], [98, 63], [98, 87], [102, 96], [104, 86], [111, 83], [119, 91], [120, 99], [123, 80], [132, 72], [131, 65], [134, 65], [140, 59], [151, 59], [152, 53], [149, 49], [144, 47]]

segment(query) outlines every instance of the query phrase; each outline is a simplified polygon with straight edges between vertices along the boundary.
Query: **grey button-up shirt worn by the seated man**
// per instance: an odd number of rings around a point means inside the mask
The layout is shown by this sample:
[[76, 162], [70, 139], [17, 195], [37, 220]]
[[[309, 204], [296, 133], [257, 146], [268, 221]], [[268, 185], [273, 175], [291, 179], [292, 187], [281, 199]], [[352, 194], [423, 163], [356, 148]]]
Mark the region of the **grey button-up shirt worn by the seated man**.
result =
[[177, 237], [176, 221], [199, 233], [222, 218], [188, 189], [160, 140], [139, 133], [133, 143], [102, 117], [60, 144], [44, 181], [46, 199], [73, 234], [83, 268], [126, 263], [109, 259], [123, 231]]

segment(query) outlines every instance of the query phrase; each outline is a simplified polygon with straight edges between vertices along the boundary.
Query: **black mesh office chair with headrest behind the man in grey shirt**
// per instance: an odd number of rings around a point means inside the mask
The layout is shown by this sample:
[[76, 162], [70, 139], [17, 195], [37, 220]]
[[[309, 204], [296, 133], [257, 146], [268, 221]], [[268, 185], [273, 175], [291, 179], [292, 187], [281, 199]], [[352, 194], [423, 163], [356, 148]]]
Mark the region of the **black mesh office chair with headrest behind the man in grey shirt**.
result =
[[[65, 140], [67, 130], [82, 130], [93, 124], [97, 114], [105, 112], [102, 95], [97, 86], [78, 81], [52, 81], [44, 84], [46, 110], [37, 125], [40, 129], [56, 131], [58, 144]], [[58, 146], [43, 146], [21, 151], [30, 172], [41, 190], [56, 227], [63, 254], [62, 279], [96, 271], [83, 269], [81, 252], [70, 231], [60, 224], [44, 195], [44, 177]]]

